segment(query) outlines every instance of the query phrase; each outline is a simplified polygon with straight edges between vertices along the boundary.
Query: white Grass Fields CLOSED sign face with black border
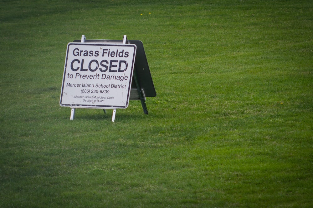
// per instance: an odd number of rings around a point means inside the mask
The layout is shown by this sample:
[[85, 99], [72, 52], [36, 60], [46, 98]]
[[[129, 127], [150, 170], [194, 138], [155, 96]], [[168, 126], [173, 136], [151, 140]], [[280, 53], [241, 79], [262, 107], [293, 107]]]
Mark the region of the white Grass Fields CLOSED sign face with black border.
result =
[[127, 108], [135, 54], [135, 44], [69, 43], [60, 105]]

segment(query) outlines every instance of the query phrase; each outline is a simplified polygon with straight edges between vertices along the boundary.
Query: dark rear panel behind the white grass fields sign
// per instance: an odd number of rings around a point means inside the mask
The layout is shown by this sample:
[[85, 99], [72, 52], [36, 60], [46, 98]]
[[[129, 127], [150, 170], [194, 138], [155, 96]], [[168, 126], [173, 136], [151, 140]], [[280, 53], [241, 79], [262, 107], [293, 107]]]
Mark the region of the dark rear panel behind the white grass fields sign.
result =
[[[74, 42], [80, 42], [80, 40], [74, 40]], [[88, 42], [123, 43], [123, 40], [85, 40], [85, 43]], [[144, 90], [146, 97], [155, 97], [156, 90], [154, 88], [143, 43], [139, 40], [128, 40], [128, 43], [135, 44], [137, 46], [134, 70], [136, 71], [139, 85], [141, 89]], [[131, 87], [136, 88], [134, 79], [131, 82]]]

